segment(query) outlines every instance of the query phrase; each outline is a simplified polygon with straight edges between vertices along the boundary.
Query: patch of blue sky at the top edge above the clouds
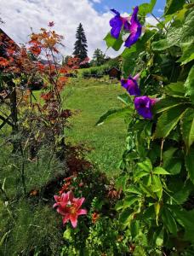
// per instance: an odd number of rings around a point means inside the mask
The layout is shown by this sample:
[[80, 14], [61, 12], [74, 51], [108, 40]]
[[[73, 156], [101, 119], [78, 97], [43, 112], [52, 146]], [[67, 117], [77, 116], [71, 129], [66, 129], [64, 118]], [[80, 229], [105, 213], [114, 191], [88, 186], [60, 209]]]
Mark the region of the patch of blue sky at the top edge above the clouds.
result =
[[[117, 9], [120, 12], [130, 13], [131, 9], [140, 5], [141, 3], [149, 3], [149, 0], [101, 0], [93, 1], [94, 9], [99, 12], [105, 12], [107, 9]], [[98, 3], [99, 2], [99, 3]], [[155, 15], [162, 15], [162, 10], [164, 9], [165, 0], [157, 0], [157, 4], [154, 9]]]

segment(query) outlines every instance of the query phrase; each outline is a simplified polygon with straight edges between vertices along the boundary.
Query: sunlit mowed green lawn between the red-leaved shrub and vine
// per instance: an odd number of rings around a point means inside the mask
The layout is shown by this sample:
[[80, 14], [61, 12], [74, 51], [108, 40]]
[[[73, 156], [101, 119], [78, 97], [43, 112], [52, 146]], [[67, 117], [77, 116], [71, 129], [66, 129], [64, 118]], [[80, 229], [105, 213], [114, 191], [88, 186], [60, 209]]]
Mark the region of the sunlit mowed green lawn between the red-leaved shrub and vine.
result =
[[108, 175], [116, 174], [125, 148], [127, 127], [123, 119], [112, 119], [95, 126], [100, 116], [110, 108], [120, 108], [117, 95], [123, 93], [120, 84], [105, 84], [95, 79], [71, 79], [64, 93], [64, 108], [78, 110], [71, 117], [71, 129], [66, 131], [71, 143], [84, 143], [92, 151], [89, 160]]

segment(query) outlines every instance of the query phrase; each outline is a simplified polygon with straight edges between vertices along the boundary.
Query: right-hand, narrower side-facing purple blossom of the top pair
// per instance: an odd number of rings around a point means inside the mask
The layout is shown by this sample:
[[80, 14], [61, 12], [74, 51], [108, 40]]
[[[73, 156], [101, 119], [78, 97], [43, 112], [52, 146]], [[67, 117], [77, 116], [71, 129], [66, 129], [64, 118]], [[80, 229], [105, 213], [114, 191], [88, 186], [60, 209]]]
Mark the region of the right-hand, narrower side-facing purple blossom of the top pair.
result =
[[142, 26], [140, 24], [140, 21], [138, 20], [138, 16], [137, 16], [138, 11], [139, 11], [139, 8], [138, 8], [138, 6], [136, 6], [134, 8], [134, 13], [130, 20], [130, 22], [131, 22], [131, 26], [129, 29], [130, 35], [124, 44], [126, 47], [131, 47], [131, 45], [135, 44], [137, 42], [137, 40], [140, 38]]

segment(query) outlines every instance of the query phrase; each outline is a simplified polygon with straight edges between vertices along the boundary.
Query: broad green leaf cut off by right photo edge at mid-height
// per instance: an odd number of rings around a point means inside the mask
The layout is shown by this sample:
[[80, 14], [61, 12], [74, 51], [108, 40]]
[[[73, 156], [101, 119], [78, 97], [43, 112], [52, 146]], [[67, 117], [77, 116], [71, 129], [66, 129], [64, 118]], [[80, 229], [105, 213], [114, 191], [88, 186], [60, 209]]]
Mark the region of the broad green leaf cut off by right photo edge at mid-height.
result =
[[181, 119], [181, 132], [187, 151], [194, 142], [194, 108], [187, 108]]

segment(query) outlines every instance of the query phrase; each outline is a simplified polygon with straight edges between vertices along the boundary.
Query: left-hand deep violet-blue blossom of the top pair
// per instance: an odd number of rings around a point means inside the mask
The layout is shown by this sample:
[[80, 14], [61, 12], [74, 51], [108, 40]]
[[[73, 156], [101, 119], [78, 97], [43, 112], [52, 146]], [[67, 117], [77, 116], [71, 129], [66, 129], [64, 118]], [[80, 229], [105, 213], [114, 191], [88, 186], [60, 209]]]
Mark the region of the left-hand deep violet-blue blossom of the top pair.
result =
[[117, 39], [119, 38], [122, 27], [129, 32], [130, 23], [128, 18], [123, 18], [117, 10], [111, 9], [111, 11], [115, 14], [115, 17], [110, 20], [111, 36]]

